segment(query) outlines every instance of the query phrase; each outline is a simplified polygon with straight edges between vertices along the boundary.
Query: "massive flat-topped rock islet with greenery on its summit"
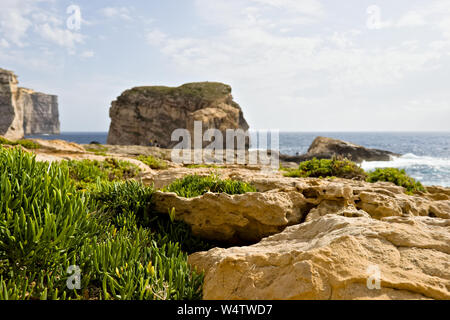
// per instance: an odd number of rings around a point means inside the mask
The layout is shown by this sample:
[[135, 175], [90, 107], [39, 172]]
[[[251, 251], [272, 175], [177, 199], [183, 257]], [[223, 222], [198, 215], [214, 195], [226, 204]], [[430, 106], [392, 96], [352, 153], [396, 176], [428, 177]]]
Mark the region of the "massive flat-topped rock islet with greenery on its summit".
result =
[[242, 110], [231, 96], [231, 87], [213, 82], [127, 90], [112, 102], [110, 117], [108, 144], [118, 145], [153, 143], [170, 148], [178, 143], [171, 141], [175, 129], [188, 129], [191, 138], [194, 136], [194, 121], [201, 121], [204, 131], [248, 130]]

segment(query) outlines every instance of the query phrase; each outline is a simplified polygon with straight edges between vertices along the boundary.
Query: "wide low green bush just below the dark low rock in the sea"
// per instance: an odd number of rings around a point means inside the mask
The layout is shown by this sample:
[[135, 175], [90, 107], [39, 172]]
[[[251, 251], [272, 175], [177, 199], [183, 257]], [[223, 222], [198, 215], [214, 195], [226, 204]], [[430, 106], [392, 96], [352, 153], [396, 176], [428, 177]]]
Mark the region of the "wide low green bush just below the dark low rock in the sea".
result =
[[356, 163], [347, 159], [312, 159], [301, 162], [297, 169], [283, 169], [286, 177], [325, 178], [338, 177], [364, 180], [365, 171]]

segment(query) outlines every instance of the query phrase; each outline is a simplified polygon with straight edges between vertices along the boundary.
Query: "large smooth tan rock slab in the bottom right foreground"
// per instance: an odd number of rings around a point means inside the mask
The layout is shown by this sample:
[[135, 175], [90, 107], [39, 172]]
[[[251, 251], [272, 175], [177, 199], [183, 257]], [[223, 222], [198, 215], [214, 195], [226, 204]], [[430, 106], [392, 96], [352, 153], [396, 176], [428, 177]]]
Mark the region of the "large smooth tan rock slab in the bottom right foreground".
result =
[[450, 220], [329, 215], [189, 262], [204, 299], [450, 299]]

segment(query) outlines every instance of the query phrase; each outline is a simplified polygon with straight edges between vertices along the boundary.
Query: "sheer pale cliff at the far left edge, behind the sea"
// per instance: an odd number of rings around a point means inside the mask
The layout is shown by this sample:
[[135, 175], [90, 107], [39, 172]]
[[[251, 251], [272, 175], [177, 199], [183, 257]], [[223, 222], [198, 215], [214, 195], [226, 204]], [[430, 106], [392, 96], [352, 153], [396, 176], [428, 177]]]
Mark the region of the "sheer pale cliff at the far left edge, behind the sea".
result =
[[58, 97], [19, 88], [17, 76], [0, 69], [0, 135], [59, 134]]

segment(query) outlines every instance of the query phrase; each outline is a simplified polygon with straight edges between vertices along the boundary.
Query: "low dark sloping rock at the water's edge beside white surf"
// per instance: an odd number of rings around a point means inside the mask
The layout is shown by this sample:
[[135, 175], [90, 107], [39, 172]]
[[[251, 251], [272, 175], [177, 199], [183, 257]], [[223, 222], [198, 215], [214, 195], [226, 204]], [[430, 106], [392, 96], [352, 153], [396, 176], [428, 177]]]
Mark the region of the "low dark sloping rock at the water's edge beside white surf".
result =
[[400, 156], [399, 154], [365, 148], [350, 142], [317, 137], [308, 149], [308, 152], [300, 156], [282, 156], [281, 160], [286, 162], [301, 162], [317, 159], [331, 159], [334, 156], [345, 157], [354, 162], [361, 163], [363, 161], [389, 161], [392, 157]]

